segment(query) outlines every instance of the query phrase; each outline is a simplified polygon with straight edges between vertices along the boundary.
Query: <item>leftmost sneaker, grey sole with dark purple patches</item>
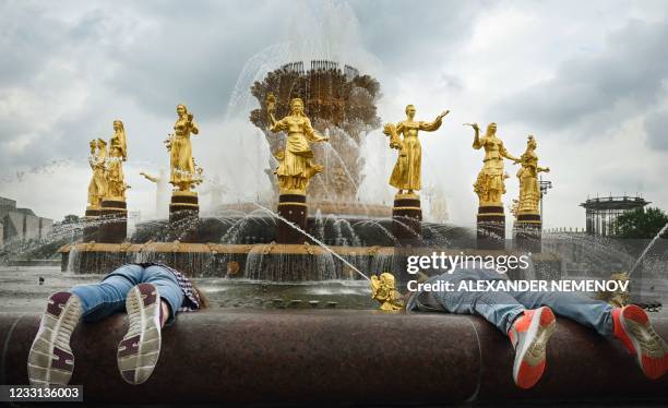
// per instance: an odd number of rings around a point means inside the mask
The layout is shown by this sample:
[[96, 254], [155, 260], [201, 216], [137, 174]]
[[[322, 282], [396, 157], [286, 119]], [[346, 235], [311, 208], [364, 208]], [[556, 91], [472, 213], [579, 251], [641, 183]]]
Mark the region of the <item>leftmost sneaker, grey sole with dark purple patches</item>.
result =
[[70, 336], [81, 319], [81, 301], [70, 292], [51, 295], [27, 361], [32, 385], [68, 385], [74, 371]]

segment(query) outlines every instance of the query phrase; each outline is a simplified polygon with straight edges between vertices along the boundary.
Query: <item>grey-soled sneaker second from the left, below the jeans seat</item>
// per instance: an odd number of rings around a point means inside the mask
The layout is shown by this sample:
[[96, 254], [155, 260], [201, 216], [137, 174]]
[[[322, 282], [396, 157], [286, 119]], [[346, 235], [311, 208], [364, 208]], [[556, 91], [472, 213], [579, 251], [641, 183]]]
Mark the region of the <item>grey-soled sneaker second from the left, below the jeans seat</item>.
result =
[[155, 286], [140, 284], [130, 289], [126, 310], [128, 333], [118, 345], [118, 370], [127, 383], [148, 380], [160, 355], [160, 295]]

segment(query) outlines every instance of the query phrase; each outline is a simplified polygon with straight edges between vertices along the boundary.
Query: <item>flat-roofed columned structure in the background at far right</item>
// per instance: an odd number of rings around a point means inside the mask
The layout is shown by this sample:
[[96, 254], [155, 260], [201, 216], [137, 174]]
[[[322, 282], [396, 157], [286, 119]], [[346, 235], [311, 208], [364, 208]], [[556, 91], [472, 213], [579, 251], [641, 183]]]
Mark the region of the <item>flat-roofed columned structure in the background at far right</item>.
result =
[[648, 201], [641, 196], [608, 196], [587, 199], [580, 206], [586, 211], [587, 233], [600, 237], [615, 237], [617, 230], [617, 217], [620, 215], [644, 208]]

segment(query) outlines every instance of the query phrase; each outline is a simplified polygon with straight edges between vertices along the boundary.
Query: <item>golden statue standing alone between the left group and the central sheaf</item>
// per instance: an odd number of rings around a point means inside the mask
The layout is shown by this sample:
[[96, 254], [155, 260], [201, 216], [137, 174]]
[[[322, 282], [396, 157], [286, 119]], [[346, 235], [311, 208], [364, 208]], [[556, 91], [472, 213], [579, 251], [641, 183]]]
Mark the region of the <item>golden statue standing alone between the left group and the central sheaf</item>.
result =
[[192, 120], [193, 115], [188, 112], [186, 105], [177, 106], [178, 119], [174, 124], [174, 134], [165, 141], [169, 151], [171, 176], [169, 183], [175, 191], [190, 192], [190, 189], [202, 182], [202, 169], [198, 168], [192, 158], [192, 144], [190, 134], [200, 133], [198, 124]]

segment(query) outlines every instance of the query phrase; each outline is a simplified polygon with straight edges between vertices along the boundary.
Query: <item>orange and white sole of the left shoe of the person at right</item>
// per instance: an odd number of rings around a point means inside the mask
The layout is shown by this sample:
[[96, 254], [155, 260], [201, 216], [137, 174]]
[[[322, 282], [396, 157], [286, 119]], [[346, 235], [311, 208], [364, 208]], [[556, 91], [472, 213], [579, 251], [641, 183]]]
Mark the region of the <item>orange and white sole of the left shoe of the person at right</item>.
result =
[[540, 380], [545, 368], [547, 343], [557, 328], [557, 319], [549, 308], [539, 308], [532, 317], [522, 350], [516, 353], [513, 365], [513, 380], [521, 388], [530, 388]]

